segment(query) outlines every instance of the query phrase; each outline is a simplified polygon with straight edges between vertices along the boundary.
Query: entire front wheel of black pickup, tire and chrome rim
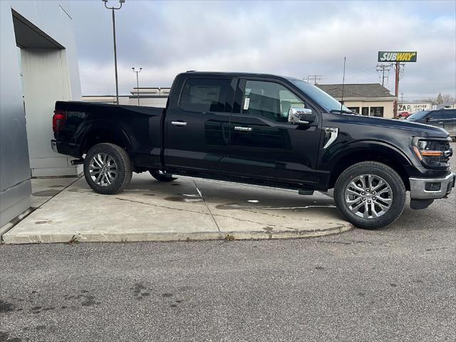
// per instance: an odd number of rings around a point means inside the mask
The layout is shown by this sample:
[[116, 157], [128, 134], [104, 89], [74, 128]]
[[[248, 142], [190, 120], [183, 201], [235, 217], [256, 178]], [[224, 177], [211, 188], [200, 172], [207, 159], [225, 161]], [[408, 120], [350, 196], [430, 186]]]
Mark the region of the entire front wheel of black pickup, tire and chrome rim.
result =
[[358, 162], [338, 177], [336, 207], [348, 222], [376, 229], [395, 222], [405, 207], [405, 186], [395, 170], [381, 162]]

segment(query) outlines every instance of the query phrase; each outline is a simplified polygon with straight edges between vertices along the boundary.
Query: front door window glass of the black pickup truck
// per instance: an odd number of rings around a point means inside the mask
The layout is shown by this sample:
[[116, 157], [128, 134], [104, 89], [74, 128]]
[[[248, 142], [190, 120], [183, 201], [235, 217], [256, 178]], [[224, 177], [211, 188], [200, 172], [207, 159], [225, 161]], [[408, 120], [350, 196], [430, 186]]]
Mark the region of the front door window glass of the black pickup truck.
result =
[[294, 93], [284, 86], [264, 81], [246, 82], [242, 106], [242, 113], [261, 115], [281, 123], [288, 122], [291, 107], [306, 107]]

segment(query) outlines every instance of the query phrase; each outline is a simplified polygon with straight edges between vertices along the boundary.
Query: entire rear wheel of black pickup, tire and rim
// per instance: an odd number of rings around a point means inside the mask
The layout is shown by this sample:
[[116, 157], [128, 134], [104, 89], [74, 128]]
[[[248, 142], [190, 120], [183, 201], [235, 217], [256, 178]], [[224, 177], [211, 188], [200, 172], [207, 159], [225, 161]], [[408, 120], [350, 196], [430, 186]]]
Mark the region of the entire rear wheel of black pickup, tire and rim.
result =
[[118, 145], [103, 142], [90, 148], [84, 159], [88, 185], [103, 195], [114, 195], [128, 186], [132, 176], [130, 157]]

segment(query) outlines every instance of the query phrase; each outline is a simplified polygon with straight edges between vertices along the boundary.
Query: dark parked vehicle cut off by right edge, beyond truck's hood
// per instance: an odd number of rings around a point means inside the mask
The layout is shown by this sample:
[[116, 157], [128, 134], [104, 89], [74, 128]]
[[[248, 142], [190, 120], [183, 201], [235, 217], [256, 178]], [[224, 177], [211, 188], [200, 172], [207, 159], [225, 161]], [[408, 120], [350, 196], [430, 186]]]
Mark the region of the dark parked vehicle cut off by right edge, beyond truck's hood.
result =
[[456, 109], [420, 110], [407, 120], [443, 128], [450, 133], [451, 138], [456, 138]]

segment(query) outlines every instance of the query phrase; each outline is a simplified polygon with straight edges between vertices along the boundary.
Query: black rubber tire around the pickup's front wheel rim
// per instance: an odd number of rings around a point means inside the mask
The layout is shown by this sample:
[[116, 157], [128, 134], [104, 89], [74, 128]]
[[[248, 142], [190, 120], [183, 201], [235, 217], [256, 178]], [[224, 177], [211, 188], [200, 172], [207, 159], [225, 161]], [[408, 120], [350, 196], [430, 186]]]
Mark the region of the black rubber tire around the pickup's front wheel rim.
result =
[[[390, 199], [390, 207], [387, 211], [385, 211], [381, 216], [378, 217], [372, 217], [372, 218], [364, 218], [358, 216], [356, 213], [353, 213], [351, 209], [349, 208], [349, 204], [346, 202], [346, 191], [349, 194], [350, 190], [346, 190], [348, 185], [356, 179], [357, 177], [361, 175], [374, 175], [377, 177], [382, 178], [390, 187], [390, 192], [389, 194], [391, 195]], [[378, 183], [379, 184], [379, 183]], [[373, 187], [371, 188], [373, 189]], [[368, 190], [366, 190], [368, 191]], [[371, 190], [372, 192], [372, 190]], [[362, 192], [364, 194], [365, 192]], [[389, 195], [388, 194], [388, 195]], [[361, 197], [360, 202], [357, 202], [356, 204], [353, 204], [353, 207], [356, 207], [358, 204], [360, 205], [366, 205], [366, 202], [361, 204], [361, 200], [366, 201], [366, 199], [369, 199], [372, 203], [374, 202], [372, 199], [375, 199], [376, 197], [373, 197], [375, 195], [375, 192], [371, 194], [367, 194], [367, 196], [371, 197]], [[352, 165], [351, 167], [348, 167], [345, 171], [341, 173], [341, 175], [338, 177], [338, 180], [336, 182], [336, 186], [334, 187], [334, 201], [336, 202], [336, 207], [341, 214], [346, 217], [348, 222], [351, 222], [355, 227], [363, 228], [363, 229], [377, 229], [381, 227], [386, 227], [389, 224], [392, 224], [395, 222], [398, 217], [400, 217], [400, 214], [402, 214], [403, 209], [405, 207], [405, 186], [403, 180], [400, 178], [397, 172], [393, 170], [391, 167], [388, 165], [382, 164], [381, 162], [358, 162], [355, 165]], [[353, 197], [353, 198], [358, 198], [358, 197]], [[382, 198], [378, 196], [380, 200]], [[377, 201], [378, 199], [375, 199]], [[369, 203], [371, 203], [369, 202]], [[380, 201], [381, 202], [381, 201]], [[382, 202], [383, 204], [385, 202]], [[371, 208], [374, 204], [368, 204], [371, 205]], [[366, 212], [366, 208], [361, 208], [360, 210], [364, 210]], [[381, 207], [375, 207], [376, 209]], [[368, 213], [371, 213], [371, 211], [368, 211]], [[358, 214], [361, 214], [361, 212], [358, 212]], [[375, 212], [375, 214], [377, 214]], [[369, 214], [368, 214], [369, 215]]]

